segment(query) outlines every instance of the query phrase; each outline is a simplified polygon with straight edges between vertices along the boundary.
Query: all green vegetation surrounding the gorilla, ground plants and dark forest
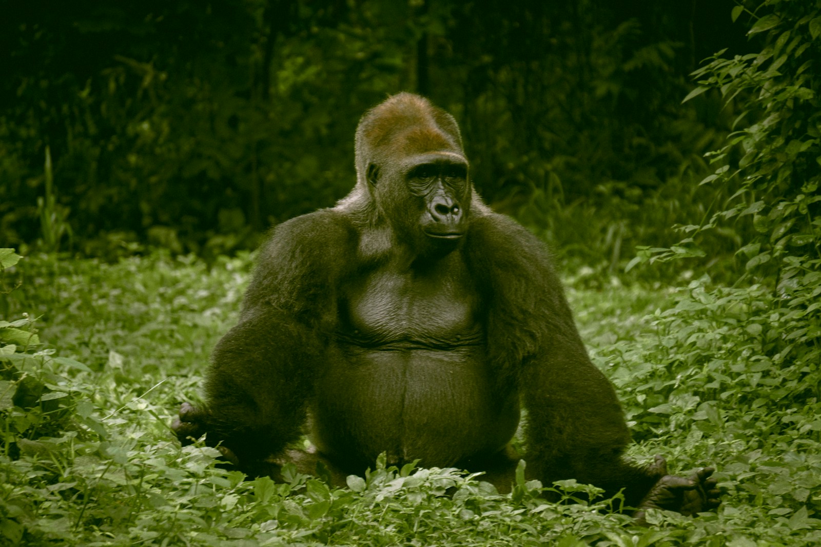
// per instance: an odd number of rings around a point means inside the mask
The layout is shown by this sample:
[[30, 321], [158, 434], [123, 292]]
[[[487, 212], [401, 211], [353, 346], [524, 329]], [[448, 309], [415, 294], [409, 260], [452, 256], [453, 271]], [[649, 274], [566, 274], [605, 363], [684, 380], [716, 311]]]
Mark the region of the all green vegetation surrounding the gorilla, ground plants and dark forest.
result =
[[[0, 545], [821, 543], [819, 0], [3, 13]], [[575, 481], [384, 463], [245, 480], [175, 440], [260, 237], [347, 193], [403, 89], [553, 248], [631, 458], [717, 467], [718, 512], [640, 527]]]

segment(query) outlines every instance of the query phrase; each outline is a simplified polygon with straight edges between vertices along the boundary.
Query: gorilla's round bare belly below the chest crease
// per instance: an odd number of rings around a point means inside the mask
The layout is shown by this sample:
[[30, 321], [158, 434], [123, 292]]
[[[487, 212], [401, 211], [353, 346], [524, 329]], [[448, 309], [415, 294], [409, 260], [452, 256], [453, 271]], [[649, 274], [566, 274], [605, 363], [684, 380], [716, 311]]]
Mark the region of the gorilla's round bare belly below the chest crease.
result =
[[516, 432], [515, 395], [498, 393], [479, 347], [347, 349], [319, 378], [311, 440], [350, 467], [420, 459], [447, 467], [502, 449]]

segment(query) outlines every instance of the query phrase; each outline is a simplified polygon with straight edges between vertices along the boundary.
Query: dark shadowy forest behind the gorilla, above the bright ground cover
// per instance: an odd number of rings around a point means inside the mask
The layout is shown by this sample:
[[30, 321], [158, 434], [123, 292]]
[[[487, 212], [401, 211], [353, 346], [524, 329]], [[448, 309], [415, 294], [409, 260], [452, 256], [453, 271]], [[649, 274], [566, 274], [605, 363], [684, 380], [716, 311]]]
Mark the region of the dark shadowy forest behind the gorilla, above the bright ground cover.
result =
[[332, 206], [359, 117], [411, 90], [493, 207], [612, 269], [707, 214], [736, 112], [681, 101], [705, 57], [760, 49], [732, 0], [3, 3], [0, 246], [103, 258], [209, 258]]

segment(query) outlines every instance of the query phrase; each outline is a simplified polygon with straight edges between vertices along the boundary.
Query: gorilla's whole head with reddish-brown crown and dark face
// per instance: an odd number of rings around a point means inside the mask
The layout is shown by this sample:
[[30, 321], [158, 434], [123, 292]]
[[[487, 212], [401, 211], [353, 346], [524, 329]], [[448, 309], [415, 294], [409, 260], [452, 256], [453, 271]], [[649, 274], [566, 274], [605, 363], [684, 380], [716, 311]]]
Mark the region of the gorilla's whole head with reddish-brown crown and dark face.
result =
[[362, 116], [354, 192], [417, 253], [448, 252], [466, 235], [473, 189], [453, 116], [399, 93]]

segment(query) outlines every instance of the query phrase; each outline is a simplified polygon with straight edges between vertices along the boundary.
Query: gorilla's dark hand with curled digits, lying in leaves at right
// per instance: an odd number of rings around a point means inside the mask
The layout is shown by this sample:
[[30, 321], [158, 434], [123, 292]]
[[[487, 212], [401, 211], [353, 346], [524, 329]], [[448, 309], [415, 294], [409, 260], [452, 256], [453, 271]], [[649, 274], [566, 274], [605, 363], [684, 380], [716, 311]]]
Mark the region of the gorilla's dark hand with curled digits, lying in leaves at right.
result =
[[663, 476], [639, 504], [635, 512], [635, 518], [639, 522], [644, 522], [644, 511], [647, 509], [665, 509], [682, 515], [693, 515], [717, 508], [721, 504], [721, 493], [716, 488], [716, 480], [711, 476], [715, 471], [713, 467], [702, 467], [687, 478], [667, 475], [667, 462], [658, 456], [652, 467], [654, 471], [658, 469]]

